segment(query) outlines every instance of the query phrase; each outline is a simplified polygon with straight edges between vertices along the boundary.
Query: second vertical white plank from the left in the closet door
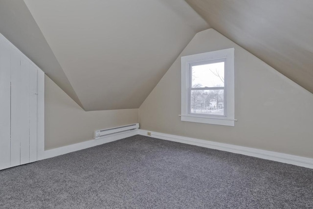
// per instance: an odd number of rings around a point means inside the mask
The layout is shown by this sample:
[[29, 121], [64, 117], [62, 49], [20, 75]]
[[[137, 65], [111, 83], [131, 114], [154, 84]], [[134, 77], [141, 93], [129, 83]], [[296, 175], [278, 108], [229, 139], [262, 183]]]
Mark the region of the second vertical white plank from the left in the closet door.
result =
[[11, 51], [11, 166], [21, 164], [21, 56]]

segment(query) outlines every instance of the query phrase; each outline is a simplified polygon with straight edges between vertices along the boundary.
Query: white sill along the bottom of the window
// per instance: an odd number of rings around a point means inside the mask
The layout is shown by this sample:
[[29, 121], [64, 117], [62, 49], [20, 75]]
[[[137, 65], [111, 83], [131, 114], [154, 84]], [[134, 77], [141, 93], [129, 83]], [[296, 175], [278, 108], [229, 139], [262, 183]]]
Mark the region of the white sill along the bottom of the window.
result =
[[196, 122], [196, 123], [207, 123], [224, 126], [235, 126], [236, 119], [230, 119], [227, 117], [210, 117], [210, 116], [196, 116], [196, 115], [181, 115], [181, 121]]

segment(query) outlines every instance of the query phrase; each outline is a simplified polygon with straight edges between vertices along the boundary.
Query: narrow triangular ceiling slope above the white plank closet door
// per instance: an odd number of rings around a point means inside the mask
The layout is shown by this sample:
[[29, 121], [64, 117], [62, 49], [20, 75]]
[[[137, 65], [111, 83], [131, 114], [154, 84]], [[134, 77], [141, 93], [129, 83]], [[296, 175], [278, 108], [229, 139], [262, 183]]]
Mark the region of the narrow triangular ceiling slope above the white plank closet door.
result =
[[0, 0], [0, 33], [43, 69], [78, 105], [82, 104], [22, 0]]

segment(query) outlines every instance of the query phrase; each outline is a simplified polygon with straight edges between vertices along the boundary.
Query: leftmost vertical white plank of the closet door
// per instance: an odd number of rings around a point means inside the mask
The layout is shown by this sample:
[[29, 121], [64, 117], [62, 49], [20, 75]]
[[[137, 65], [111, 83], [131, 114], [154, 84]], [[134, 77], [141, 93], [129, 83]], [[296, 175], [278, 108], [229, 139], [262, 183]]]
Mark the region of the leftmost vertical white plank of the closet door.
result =
[[0, 37], [0, 169], [10, 167], [11, 150], [11, 54]]

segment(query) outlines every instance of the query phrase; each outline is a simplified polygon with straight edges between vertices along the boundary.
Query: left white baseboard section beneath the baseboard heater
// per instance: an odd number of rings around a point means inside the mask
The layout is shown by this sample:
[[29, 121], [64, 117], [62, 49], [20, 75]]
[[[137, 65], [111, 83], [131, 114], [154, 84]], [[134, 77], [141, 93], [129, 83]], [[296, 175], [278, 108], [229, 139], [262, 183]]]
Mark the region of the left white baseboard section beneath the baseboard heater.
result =
[[137, 134], [138, 134], [137, 130], [127, 131], [127, 132], [123, 132], [123, 133], [116, 133], [114, 135], [107, 136], [107, 137], [101, 138], [101, 139], [90, 139], [88, 141], [83, 141], [83, 142], [76, 143], [76, 144], [71, 144], [71, 145], [67, 145], [67, 146], [63, 146], [63, 147], [59, 147], [59, 148], [55, 148], [55, 149], [45, 150], [45, 151], [41, 152], [41, 154], [38, 156], [38, 161], [44, 160], [47, 158], [56, 157], [59, 155], [64, 155], [64, 154], [67, 154], [70, 152], [75, 152], [78, 150], [86, 149], [89, 147], [97, 146], [100, 144], [108, 143], [111, 141], [116, 141], [119, 139], [132, 137], [132, 136], [137, 135]]

